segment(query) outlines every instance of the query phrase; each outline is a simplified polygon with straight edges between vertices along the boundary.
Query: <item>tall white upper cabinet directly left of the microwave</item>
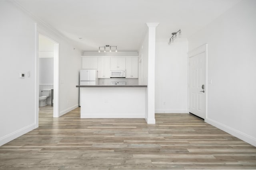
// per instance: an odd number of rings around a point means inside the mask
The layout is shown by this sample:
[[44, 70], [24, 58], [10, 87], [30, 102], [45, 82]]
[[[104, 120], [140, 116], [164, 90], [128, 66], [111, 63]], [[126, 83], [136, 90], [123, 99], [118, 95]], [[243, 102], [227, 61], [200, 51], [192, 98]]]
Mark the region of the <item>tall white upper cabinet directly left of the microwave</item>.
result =
[[98, 57], [98, 78], [110, 78], [110, 57]]

